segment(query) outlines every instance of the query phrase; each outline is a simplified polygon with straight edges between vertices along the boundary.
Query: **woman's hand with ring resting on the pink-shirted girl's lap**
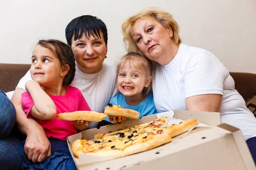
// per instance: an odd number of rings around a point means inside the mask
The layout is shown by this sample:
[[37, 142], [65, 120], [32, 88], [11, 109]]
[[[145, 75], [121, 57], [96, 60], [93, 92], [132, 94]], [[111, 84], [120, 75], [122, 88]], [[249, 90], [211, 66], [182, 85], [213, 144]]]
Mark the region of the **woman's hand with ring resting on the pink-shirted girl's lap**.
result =
[[41, 126], [36, 126], [30, 133], [27, 133], [24, 150], [28, 159], [33, 162], [42, 162], [51, 156], [51, 144]]

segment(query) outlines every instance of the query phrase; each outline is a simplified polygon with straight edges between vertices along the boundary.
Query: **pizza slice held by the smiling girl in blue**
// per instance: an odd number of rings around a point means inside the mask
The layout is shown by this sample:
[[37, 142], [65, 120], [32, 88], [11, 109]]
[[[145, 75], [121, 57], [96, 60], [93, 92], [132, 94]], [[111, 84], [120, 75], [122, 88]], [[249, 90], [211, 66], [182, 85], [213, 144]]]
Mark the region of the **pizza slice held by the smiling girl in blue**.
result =
[[105, 107], [104, 113], [108, 116], [123, 116], [130, 119], [138, 119], [140, 117], [140, 112], [122, 108], [119, 105], [112, 105], [111, 103]]

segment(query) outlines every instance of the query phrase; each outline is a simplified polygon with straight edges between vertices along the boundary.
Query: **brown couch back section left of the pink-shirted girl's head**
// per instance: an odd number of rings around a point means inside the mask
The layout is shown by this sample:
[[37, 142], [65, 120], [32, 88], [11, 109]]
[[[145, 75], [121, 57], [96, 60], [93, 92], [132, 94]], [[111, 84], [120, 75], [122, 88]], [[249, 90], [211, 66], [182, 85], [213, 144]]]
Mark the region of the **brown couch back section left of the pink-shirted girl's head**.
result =
[[0, 90], [4, 92], [15, 90], [20, 79], [30, 68], [30, 64], [0, 63]]

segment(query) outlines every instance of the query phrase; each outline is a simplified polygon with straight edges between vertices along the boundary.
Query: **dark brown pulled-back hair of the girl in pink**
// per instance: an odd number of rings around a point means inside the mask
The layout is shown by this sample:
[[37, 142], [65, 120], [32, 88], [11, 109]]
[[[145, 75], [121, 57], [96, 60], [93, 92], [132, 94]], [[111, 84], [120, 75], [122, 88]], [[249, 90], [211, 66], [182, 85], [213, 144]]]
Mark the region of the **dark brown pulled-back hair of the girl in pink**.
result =
[[51, 50], [59, 59], [61, 66], [65, 66], [66, 64], [70, 66], [70, 69], [62, 82], [62, 85], [70, 85], [76, 72], [75, 57], [70, 45], [54, 39], [39, 40], [38, 45]]

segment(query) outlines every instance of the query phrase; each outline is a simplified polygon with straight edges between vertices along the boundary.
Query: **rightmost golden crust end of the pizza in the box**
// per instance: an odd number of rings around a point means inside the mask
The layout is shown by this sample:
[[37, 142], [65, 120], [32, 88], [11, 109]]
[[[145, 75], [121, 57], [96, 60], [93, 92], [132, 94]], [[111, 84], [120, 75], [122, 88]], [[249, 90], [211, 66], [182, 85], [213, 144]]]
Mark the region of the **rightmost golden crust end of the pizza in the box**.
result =
[[190, 128], [196, 125], [198, 125], [197, 119], [189, 119], [178, 125], [166, 127], [166, 129], [164, 130], [164, 133], [166, 133], [170, 137], [175, 137], [180, 135], [181, 133], [185, 133], [189, 131]]

